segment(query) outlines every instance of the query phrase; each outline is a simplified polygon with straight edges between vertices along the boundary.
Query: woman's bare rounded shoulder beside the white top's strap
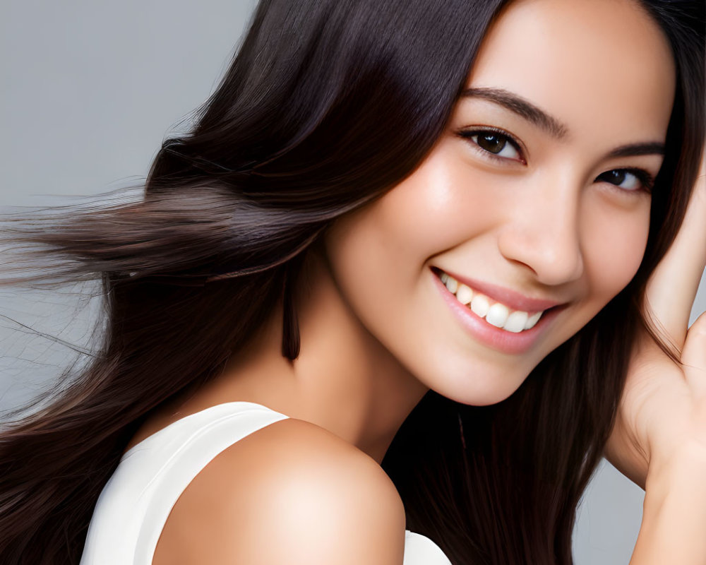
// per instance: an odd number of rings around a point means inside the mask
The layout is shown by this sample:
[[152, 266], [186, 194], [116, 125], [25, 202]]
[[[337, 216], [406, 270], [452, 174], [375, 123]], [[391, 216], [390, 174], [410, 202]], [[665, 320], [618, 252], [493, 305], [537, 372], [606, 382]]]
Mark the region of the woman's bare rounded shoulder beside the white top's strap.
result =
[[287, 419], [230, 446], [174, 505], [153, 565], [402, 565], [405, 511], [375, 460]]

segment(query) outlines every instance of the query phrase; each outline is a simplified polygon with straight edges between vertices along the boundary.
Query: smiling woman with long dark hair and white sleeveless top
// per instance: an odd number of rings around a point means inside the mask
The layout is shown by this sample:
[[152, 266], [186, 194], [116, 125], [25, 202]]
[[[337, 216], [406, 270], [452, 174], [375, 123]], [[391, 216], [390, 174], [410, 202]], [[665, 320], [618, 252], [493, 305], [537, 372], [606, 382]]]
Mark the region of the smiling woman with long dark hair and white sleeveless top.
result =
[[143, 201], [11, 233], [108, 329], [3, 432], [2, 560], [568, 564], [605, 452], [633, 565], [703, 561], [703, 21], [261, 2]]

